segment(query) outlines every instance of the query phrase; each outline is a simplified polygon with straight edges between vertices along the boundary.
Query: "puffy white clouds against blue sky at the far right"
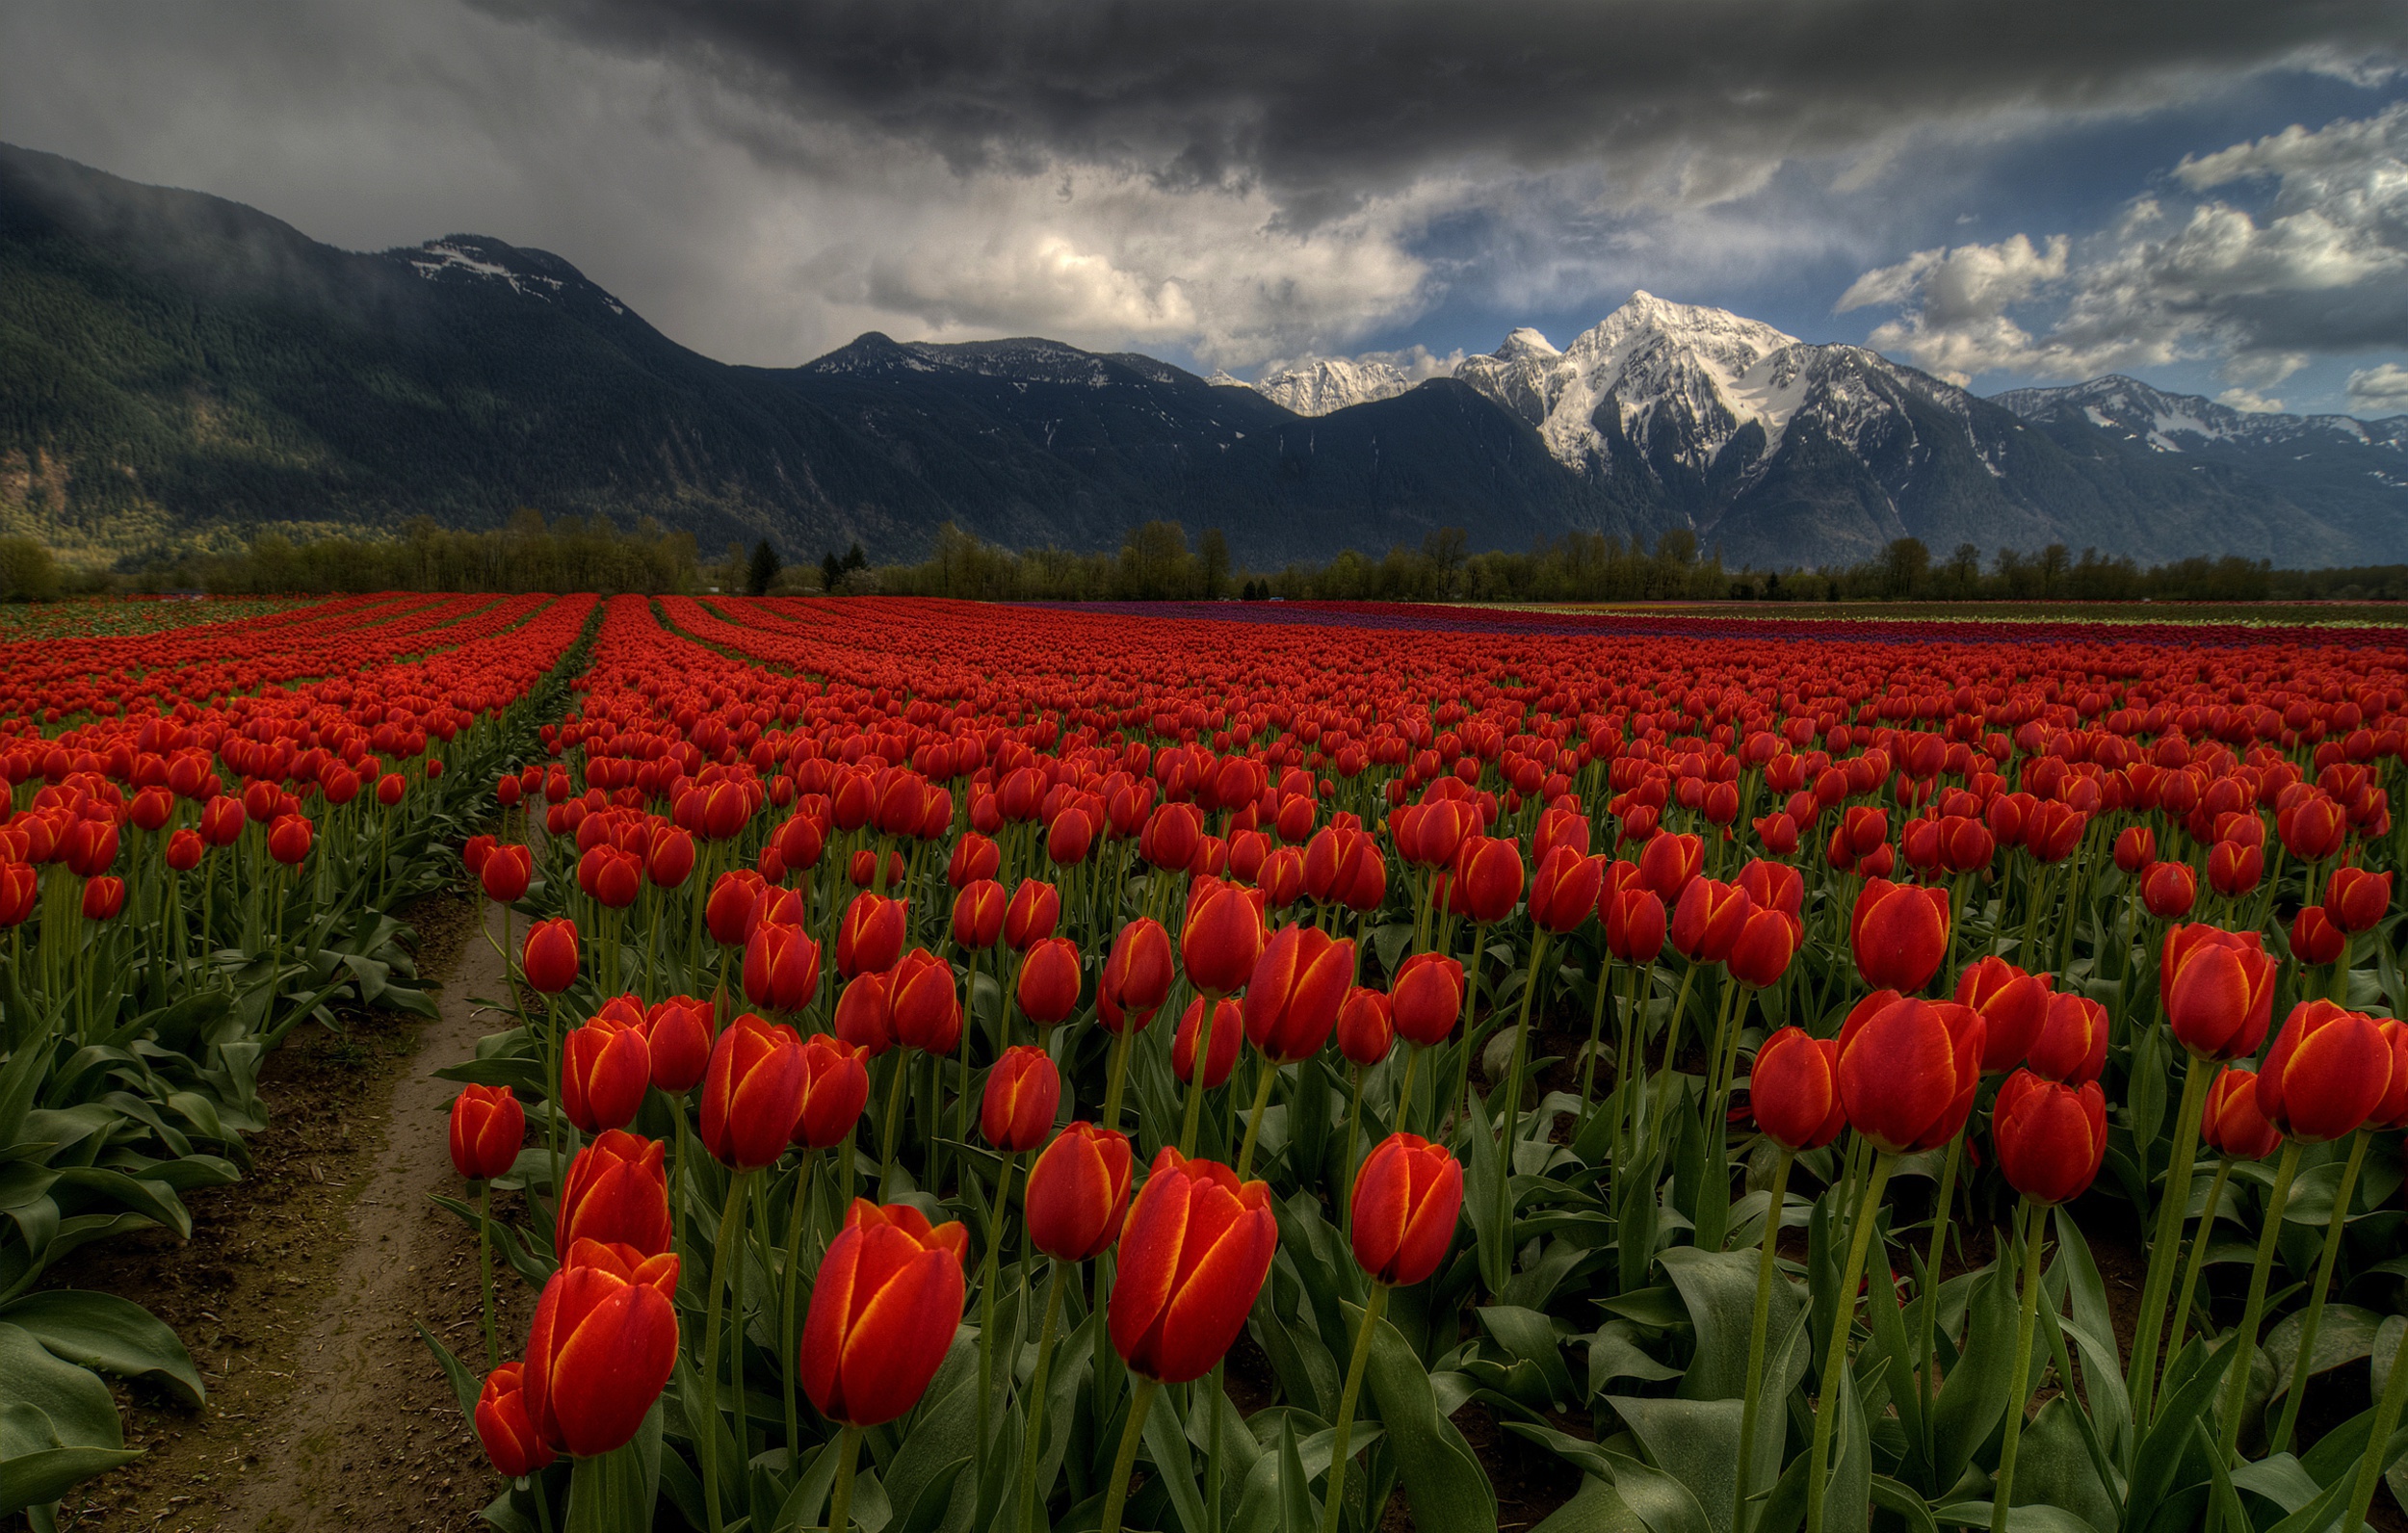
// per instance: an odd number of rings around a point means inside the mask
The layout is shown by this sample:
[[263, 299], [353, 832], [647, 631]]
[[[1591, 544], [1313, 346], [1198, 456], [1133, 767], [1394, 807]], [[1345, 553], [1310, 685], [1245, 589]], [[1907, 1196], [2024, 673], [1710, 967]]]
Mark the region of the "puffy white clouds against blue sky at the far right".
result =
[[[2199, 200], [2136, 197], [2078, 243], [1922, 250], [1837, 308], [1898, 308], [1871, 342], [1960, 383], [2215, 359], [2261, 390], [2316, 354], [2408, 347], [2408, 103], [2194, 156], [2174, 180]], [[2213, 195], [2261, 183], [2256, 212]]]

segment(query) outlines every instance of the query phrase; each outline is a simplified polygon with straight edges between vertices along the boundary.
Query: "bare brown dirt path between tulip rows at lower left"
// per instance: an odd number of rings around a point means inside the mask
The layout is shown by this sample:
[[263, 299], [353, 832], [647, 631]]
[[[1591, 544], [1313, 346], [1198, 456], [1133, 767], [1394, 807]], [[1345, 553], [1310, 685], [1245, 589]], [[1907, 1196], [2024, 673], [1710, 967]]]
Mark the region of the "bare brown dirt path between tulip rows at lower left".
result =
[[[63, 1528], [470, 1528], [501, 1492], [414, 1331], [484, 1372], [477, 1235], [426, 1201], [460, 1194], [445, 1143], [458, 1088], [431, 1071], [494, 1030], [470, 996], [501, 994], [479, 910], [433, 898], [405, 912], [441, 1018], [356, 1013], [270, 1056], [255, 1165], [185, 1198], [190, 1242], [149, 1230], [55, 1273], [152, 1309], [209, 1386], [200, 1410], [120, 1389], [125, 1442], [147, 1456], [70, 1494]], [[496, 1290], [508, 1353], [535, 1295], [506, 1268]]]

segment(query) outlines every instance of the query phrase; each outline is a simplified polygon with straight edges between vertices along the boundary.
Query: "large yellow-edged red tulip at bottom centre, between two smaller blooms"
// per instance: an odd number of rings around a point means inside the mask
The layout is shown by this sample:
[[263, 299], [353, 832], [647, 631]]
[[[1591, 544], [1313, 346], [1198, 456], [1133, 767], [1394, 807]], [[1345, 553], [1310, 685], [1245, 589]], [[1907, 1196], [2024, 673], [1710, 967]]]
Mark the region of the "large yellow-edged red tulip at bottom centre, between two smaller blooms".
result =
[[1255, 1309], [1276, 1244], [1269, 1186], [1165, 1146], [1129, 1208], [1108, 1312], [1129, 1372], [1161, 1384], [1209, 1374]]

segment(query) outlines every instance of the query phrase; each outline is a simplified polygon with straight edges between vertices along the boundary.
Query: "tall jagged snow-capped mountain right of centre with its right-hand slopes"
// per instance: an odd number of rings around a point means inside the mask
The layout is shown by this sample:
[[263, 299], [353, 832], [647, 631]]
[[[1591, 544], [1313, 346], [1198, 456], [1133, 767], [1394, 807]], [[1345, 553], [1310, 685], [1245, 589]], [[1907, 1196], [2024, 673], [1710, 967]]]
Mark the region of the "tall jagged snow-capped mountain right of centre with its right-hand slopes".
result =
[[2042, 428], [1864, 347], [1652, 294], [1560, 351], [1515, 330], [1454, 375], [1529, 421], [1633, 520], [1652, 508], [1734, 563], [1859, 561], [1898, 537], [1936, 554], [2066, 544], [2143, 561], [2343, 563], [2367, 541], [2408, 546], [2408, 503], [2389, 525], [2312, 513], [2199, 464], [2133, 460], [2078, 407], [2052, 416], [2078, 428]]

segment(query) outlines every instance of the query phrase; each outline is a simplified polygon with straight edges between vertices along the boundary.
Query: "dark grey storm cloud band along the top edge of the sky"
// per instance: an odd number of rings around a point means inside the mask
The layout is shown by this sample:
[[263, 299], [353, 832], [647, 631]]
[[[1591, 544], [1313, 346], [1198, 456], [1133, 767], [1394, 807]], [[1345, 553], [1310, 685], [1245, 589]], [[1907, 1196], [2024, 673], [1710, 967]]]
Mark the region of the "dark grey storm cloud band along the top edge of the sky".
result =
[[2398, 0], [479, 0], [961, 171], [1262, 178], [1300, 217], [1438, 164], [1606, 161], [1674, 200], [1996, 113], [2391, 67]]

